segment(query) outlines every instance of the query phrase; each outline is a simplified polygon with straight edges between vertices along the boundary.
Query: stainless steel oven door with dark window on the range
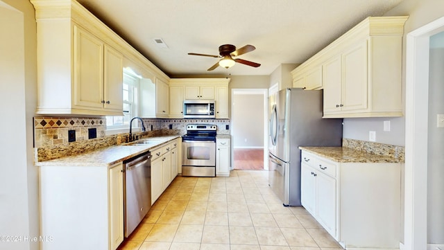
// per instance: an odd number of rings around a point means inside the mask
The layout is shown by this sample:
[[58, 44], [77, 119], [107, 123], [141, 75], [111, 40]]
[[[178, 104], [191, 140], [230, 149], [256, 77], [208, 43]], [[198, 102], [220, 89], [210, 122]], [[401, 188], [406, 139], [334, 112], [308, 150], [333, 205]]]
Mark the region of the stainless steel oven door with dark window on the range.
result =
[[216, 166], [214, 141], [183, 141], [182, 166]]

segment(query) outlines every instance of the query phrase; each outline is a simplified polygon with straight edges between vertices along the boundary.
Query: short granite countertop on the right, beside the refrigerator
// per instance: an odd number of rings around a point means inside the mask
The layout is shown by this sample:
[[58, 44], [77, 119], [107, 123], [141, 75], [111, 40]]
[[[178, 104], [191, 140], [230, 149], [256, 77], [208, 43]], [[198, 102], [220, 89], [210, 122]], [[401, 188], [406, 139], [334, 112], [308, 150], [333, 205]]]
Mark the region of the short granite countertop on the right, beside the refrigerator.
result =
[[403, 163], [398, 157], [373, 154], [344, 147], [299, 147], [300, 150], [316, 154], [339, 163]]

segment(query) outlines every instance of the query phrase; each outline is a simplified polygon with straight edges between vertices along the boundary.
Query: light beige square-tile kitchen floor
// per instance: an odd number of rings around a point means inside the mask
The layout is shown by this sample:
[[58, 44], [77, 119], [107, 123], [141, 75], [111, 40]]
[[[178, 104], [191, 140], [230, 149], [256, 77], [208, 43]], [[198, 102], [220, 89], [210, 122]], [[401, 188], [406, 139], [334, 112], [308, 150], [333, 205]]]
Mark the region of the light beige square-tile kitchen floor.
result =
[[339, 250], [302, 207], [284, 207], [265, 170], [176, 177], [121, 250]]

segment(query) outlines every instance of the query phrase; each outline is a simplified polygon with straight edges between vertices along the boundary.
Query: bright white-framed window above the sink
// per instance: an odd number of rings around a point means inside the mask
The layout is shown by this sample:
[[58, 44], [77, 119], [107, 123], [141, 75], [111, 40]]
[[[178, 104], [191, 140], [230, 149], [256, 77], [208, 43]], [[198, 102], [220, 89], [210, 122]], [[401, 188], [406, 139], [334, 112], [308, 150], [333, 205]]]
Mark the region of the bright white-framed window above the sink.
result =
[[130, 120], [137, 116], [138, 90], [140, 78], [123, 69], [123, 116], [106, 116], [107, 130], [130, 127]]

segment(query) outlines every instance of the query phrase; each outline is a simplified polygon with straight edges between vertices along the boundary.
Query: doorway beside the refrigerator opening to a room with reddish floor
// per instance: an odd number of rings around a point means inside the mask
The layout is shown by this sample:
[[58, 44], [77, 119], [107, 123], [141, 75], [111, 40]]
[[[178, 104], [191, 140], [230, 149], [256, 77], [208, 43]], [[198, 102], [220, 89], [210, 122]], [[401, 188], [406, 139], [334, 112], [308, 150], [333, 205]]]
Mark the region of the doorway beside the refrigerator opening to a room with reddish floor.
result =
[[232, 89], [232, 168], [268, 170], [267, 89]]

